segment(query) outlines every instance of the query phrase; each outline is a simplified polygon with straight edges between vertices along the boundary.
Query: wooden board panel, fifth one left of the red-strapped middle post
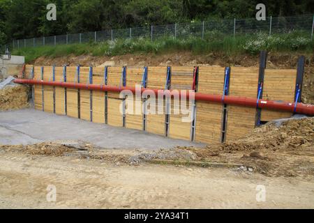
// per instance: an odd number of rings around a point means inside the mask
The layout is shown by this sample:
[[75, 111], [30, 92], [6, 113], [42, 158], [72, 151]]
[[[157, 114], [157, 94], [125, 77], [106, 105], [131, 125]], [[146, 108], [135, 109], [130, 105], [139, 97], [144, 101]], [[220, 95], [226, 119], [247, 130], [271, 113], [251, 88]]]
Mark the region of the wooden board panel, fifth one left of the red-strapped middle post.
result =
[[[93, 83], [105, 84], [105, 68], [97, 67], [93, 68]], [[93, 122], [105, 123], [105, 92], [93, 91]]]

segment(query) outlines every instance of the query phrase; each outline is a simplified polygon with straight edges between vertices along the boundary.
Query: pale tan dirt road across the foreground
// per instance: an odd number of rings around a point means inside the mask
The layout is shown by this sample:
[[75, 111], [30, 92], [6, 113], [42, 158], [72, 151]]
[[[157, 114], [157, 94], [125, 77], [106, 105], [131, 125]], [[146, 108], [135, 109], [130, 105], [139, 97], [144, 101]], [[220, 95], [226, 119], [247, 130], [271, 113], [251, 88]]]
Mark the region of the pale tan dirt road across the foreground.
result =
[[[269, 178], [5, 151], [0, 163], [0, 208], [314, 208], [313, 176]], [[257, 185], [266, 189], [264, 202], [256, 200]]]

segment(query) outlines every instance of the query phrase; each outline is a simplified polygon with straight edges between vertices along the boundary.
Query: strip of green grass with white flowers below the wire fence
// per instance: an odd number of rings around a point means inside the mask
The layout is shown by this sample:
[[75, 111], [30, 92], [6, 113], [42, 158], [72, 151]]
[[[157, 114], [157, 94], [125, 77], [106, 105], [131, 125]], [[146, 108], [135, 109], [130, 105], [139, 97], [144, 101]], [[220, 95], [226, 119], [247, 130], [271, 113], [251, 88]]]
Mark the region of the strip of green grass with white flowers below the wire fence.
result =
[[26, 47], [13, 50], [13, 54], [25, 56], [27, 62], [40, 56], [51, 58], [59, 56], [75, 56], [90, 54], [92, 56], [116, 56], [123, 54], [163, 54], [170, 52], [192, 52], [193, 54], [209, 54], [211, 52], [226, 55], [258, 54], [260, 50], [270, 52], [301, 52], [313, 54], [314, 41], [308, 34], [294, 32], [268, 36], [257, 33], [255, 35], [225, 36], [222, 33], [207, 33], [209, 38], [160, 38], [154, 40], [114, 40], [103, 43], [84, 43], [72, 45], [57, 45], [44, 47]]

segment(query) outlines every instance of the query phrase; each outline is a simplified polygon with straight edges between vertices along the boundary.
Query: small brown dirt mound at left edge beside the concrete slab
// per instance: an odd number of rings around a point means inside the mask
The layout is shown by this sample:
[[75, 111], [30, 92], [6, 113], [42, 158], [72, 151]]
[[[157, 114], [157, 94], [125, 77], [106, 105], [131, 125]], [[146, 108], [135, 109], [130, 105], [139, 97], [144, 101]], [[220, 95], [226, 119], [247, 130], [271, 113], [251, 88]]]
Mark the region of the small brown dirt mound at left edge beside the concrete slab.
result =
[[0, 111], [29, 107], [29, 87], [14, 84], [0, 89]]

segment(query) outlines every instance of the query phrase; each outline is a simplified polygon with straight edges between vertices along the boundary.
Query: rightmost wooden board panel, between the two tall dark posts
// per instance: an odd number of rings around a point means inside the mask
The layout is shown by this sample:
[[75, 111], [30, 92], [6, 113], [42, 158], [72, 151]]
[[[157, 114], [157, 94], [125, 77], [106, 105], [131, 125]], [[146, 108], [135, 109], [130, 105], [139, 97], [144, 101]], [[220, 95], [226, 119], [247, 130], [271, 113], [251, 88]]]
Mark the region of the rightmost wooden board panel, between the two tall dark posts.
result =
[[[266, 69], [264, 75], [263, 99], [294, 102], [296, 78], [296, 70]], [[263, 109], [261, 114], [261, 121], [271, 121], [278, 118], [289, 118], [290, 116], [292, 116], [292, 113], [290, 112], [275, 112]]]

